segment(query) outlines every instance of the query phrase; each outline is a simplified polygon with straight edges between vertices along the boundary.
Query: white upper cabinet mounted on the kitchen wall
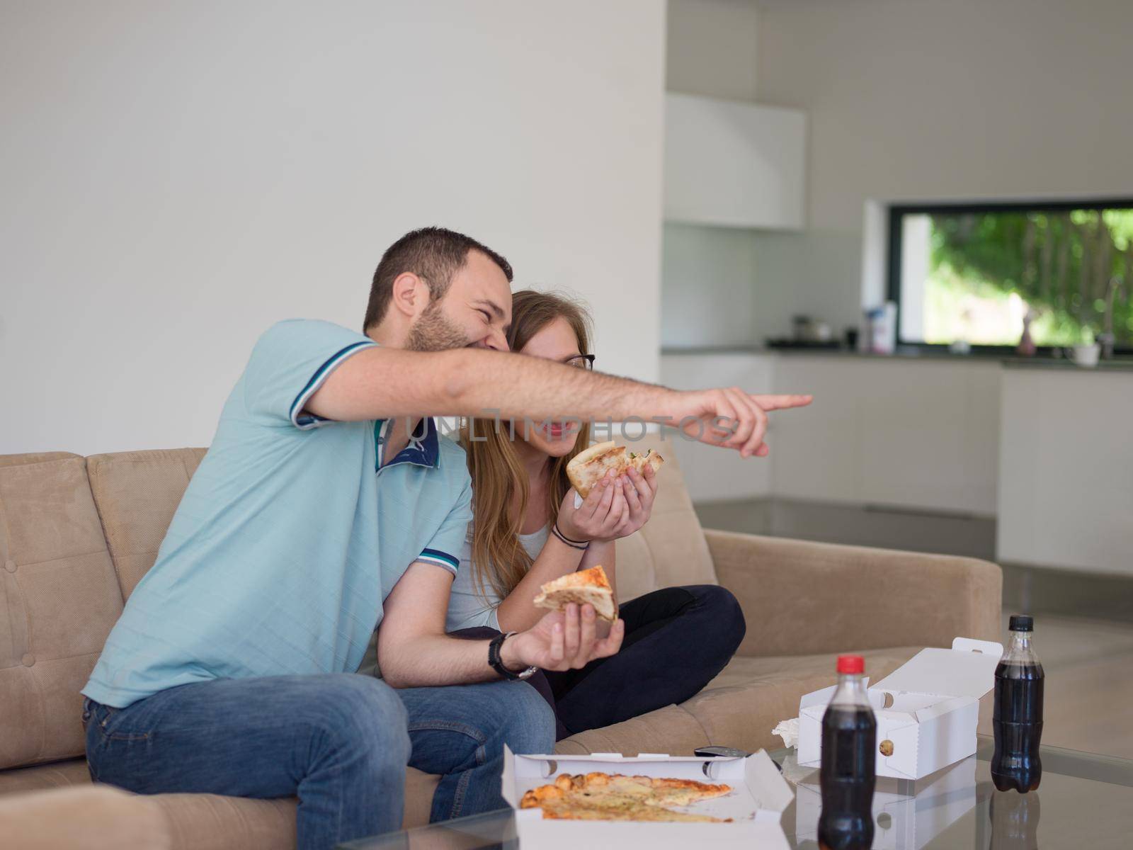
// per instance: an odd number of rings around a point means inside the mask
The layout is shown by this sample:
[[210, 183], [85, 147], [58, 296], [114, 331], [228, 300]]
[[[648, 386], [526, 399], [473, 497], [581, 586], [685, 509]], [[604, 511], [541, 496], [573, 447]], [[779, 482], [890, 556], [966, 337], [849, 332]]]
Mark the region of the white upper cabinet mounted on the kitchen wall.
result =
[[803, 226], [807, 117], [795, 109], [665, 96], [665, 220]]

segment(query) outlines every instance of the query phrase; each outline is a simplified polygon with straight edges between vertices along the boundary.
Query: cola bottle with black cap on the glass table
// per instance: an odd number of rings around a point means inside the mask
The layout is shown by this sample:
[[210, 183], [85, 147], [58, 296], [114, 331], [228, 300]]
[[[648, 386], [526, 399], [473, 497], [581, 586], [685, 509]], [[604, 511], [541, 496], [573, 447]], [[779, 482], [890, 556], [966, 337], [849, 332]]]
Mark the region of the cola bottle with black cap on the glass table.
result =
[[1034, 621], [1029, 614], [1011, 618], [1011, 643], [995, 669], [991, 729], [991, 781], [1000, 791], [1025, 794], [1039, 787], [1042, 763], [1042, 664], [1031, 648]]

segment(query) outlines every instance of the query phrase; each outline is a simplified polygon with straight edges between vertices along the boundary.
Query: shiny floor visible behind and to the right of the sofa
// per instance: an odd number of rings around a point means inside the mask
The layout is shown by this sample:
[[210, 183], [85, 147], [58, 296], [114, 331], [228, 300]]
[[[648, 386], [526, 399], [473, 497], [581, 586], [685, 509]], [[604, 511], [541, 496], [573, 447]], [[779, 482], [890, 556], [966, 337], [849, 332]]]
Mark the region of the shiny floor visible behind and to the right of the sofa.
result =
[[[855, 545], [948, 552], [994, 560], [995, 522], [766, 501], [698, 504], [706, 528]], [[1034, 647], [1046, 672], [1042, 742], [1133, 758], [1133, 579], [1005, 569], [1007, 615], [1034, 614]], [[1041, 579], [1041, 580], [1039, 580]], [[1053, 613], [1057, 611], [1058, 613]], [[1083, 614], [1106, 612], [1106, 619]], [[991, 732], [991, 696], [980, 731]]]

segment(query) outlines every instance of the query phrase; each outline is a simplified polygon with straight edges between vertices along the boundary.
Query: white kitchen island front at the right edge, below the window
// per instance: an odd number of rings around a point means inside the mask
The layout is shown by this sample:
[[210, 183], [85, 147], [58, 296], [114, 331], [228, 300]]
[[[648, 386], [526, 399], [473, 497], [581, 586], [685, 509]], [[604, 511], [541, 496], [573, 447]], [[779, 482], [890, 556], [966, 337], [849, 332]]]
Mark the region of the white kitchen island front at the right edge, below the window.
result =
[[1133, 573], [1133, 374], [1004, 369], [997, 555]]

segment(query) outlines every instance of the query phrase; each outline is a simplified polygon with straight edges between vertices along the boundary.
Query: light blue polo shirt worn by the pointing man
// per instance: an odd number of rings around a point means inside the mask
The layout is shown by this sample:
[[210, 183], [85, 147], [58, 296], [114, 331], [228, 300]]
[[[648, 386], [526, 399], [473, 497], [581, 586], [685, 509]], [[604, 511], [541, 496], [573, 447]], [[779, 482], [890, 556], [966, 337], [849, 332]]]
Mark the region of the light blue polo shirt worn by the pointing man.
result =
[[382, 458], [389, 420], [304, 411], [373, 346], [305, 320], [259, 338], [86, 696], [125, 708], [193, 682], [355, 671], [409, 564], [455, 572], [471, 518], [463, 450], [423, 418], [419, 439]]

